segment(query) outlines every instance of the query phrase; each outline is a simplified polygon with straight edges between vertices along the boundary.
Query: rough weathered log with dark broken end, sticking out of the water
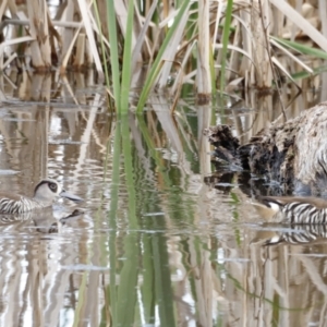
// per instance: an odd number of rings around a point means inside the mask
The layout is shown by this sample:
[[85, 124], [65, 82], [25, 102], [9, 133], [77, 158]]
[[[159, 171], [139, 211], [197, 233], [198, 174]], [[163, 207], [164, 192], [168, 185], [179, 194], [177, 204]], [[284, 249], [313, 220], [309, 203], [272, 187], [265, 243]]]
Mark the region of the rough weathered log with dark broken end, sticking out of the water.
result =
[[[327, 101], [322, 102], [286, 123], [271, 124], [245, 144], [233, 136], [228, 125], [205, 129], [204, 134], [214, 146], [216, 170], [264, 178], [262, 184], [271, 184], [269, 195], [282, 192], [283, 195], [326, 197], [326, 109]], [[251, 192], [246, 190], [246, 194]]]

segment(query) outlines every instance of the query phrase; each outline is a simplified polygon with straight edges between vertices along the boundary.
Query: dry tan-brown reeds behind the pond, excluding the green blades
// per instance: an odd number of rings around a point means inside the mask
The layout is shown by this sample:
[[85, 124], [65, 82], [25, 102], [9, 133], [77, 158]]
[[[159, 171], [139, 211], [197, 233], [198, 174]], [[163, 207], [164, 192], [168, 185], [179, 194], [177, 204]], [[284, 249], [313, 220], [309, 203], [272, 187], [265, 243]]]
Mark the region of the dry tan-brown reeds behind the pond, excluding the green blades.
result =
[[[189, 1], [189, 0], [186, 0]], [[153, 84], [168, 87], [175, 96], [183, 84], [194, 84], [198, 94], [217, 88], [221, 65], [226, 65], [226, 90], [240, 86], [270, 88], [281, 76], [295, 83], [292, 74], [314, 70], [306, 64], [313, 47], [327, 51], [325, 1], [235, 0], [228, 28], [228, 44], [221, 41], [227, 1], [190, 2], [179, 28], [166, 45]], [[0, 4], [0, 71], [11, 68], [65, 73], [95, 68], [104, 75], [104, 58], [110, 56], [107, 4], [105, 0], [62, 1], [56, 10], [46, 1], [31, 0], [17, 5], [14, 0]], [[114, 1], [120, 64], [126, 38], [128, 1]], [[160, 50], [177, 16], [178, 8], [168, 1], [140, 1], [134, 9], [132, 31], [132, 78], [140, 86]], [[98, 14], [97, 14], [98, 13]], [[302, 53], [288, 49], [278, 39], [306, 46]], [[101, 53], [101, 41], [105, 45]], [[227, 55], [221, 49], [227, 47]], [[101, 56], [105, 57], [101, 57]], [[102, 60], [100, 59], [102, 58]], [[286, 59], [287, 58], [287, 61]], [[107, 60], [107, 59], [105, 59]], [[216, 82], [215, 82], [216, 81]], [[213, 85], [213, 82], [216, 85]]]

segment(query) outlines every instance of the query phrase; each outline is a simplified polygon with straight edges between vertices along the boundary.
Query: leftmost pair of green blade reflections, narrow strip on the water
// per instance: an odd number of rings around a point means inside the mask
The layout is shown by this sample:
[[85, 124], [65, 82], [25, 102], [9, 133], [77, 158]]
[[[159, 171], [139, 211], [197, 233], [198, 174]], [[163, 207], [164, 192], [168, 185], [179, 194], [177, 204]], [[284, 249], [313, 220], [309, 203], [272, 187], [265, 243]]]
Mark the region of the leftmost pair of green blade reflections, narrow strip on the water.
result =
[[[138, 237], [135, 232], [128, 232], [123, 239], [124, 262], [120, 272], [117, 271], [117, 208], [119, 191], [119, 168], [120, 168], [120, 145], [124, 158], [125, 183], [128, 186], [128, 213], [129, 228], [138, 229], [135, 215], [135, 185], [133, 174], [133, 158], [131, 153], [130, 131], [128, 117], [122, 117], [121, 123], [117, 124], [113, 153], [113, 170], [110, 203], [110, 225], [113, 228], [110, 232], [110, 302], [112, 305], [112, 324], [113, 326], [132, 326], [134, 322], [136, 306], [136, 287], [138, 275], [138, 256], [140, 246]], [[114, 193], [113, 193], [114, 192]], [[116, 275], [120, 275], [119, 286], [116, 287]]]

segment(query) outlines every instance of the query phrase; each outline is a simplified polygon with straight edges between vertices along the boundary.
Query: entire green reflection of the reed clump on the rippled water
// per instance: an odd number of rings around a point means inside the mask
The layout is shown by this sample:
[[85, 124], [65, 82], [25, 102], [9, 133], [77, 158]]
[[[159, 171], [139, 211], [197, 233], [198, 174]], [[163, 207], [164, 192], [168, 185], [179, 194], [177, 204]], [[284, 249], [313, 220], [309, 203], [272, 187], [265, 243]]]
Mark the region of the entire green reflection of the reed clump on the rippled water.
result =
[[[157, 129], [155, 137], [143, 117], [138, 118], [137, 123], [140, 134], [134, 126], [130, 130], [128, 117], [122, 116], [116, 125], [110, 213], [108, 214], [110, 232], [107, 245], [110, 256], [110, 284], [106, 286], [106, 304], [101, 324], [105, 326], [106, 320], [110, 319], [112, 326], [119, 324], [129, 326], [133, 322], [140, 322], [140, 315], [146, 324], [153, 324], [157, 307], [160, 324], [175, 326], [178, 317], [174, 315], [171, 284], [169, 263], [171, 254], [162, 231], [167, 230], [171, 221], [180, 222], [186, 219], [193, 221], [194, 201], [181, 187], [181, 184], [187, 184], [187, 180], [182, 182], [182, 179], [185, 179], [185, 172], [181, 171], [183, 168], [174, 164], [170, 166], [170, 162], [162, 158], [162, 153], [158, 150], [162, 145], [156, 144], [157, 135], [164, 133], [159, 122], [153, 124], [153, 128]], [[131, 131], [132, 135], [136, 133], [136, 137], [142, 136], [137, 146], [131, 142]], [[186, 133], [183, 135], [187, 137]], [[194, 140], [193, 135], [190, 140]], [[184, 143], [185, 146], [191, 147], [190, 140], [186, 140], [189, 142]], [[112, 148], [108, 147], [108, 150]], [[124, 174], [121, 173], [122, 164]], [[150, 169], [152, 173], [147, 169]], [[123, 175], [128, 190], [128, 203], [123, 204], [128, 215], [123, 218], [128, 219], [129, 229], [124, 232], [119, 230], [118, 223], [118, 219], [121, 218], [118, 215], [122, 211], [119, 207], [121, 205], [119, 191], [120, 184], [124, 184], [120, 181], [120, 175]], [[149, 215], [149, 213], [162, 211], [165, 215]], [[144, 213], [147, 215], [142, 216]], [[140, 233], [141, 229], [150, 233]], [[123, 249], [120, 244], [123, 244]], [[202, 244], [198, 243], [195, 254], [198, 265], [202, 263], [201, 246]], [[119, 261], [121, 256], [123, 261]], [[141, 290], [138, 302], [137, 290]], [[107, 307], [110, 308], [110, 316]]]

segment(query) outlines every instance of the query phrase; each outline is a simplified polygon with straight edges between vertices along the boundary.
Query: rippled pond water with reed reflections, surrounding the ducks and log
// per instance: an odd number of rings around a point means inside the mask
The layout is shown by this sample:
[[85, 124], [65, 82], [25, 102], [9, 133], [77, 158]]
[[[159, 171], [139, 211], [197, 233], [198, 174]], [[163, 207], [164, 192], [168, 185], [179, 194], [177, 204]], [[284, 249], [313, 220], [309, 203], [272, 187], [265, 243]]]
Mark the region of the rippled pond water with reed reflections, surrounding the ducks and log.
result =
[[325, 227], [264, 223], [238, 173], [205, 182], [203, 129], [230, 123], [245, 142], [280, 116], [274, 97], [259, 112], [185, 100], [174, 117], [154, 98], [117, 120], [101, 87], [39, 78], [5, 84], [0, 189], [31, 195], [50, 177], [85, 201], [1, 218], [0, 326], [326, 325]]

